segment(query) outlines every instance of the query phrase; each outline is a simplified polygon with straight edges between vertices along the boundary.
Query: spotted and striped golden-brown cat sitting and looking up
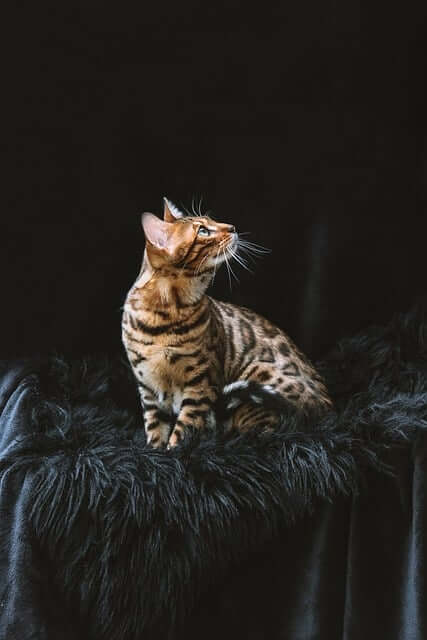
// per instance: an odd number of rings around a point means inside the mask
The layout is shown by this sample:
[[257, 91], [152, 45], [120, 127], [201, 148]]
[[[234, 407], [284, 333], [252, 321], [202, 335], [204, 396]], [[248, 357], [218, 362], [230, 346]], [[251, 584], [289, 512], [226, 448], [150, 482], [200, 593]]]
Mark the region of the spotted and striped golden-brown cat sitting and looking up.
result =
[[183, 214], [165, 198], [163, 220], [144, 213], [142, 227], [143, 263], [123, 307], [122, 339], [148, 443], [172, 448], [188, 428], [213, 427], [220, 396], [233, 409], [227, 426], [240, 431], [274, 429], [282, 405], [331, 406], [287, 335], [250, 309], [206, 295], [216, 269], [245, 244], [233, 225]]

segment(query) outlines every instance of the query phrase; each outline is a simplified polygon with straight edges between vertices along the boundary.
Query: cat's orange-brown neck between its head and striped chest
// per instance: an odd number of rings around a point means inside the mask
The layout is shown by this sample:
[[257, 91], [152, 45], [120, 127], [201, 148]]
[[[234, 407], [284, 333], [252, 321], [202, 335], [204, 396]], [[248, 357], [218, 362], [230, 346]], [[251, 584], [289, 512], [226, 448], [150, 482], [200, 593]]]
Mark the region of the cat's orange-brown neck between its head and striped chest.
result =
[[181, 269], [154, 269], [144, 256], [141, 272], [129, 294], [134, 309], [164, 309], [169, 313], [175, 310], [179, 314], [203, 300], [209, 281], [206, 275], [192, 277]]

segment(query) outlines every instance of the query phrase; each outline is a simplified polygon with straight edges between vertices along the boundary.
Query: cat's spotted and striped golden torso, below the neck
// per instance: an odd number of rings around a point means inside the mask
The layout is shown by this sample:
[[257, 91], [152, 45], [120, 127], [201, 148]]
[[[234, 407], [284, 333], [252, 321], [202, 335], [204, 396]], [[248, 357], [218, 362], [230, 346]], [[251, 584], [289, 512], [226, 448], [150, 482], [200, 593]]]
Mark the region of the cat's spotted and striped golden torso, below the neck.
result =
[[[199, 421], [196, 426], [201, 426], [201, 419], [212, 423], [218, 395], [225, 385], [238, 381], [268, 385], [296, 408], [330, 404], [322, 380], [288, 336], [244, 307], [204, 295], [194, 304], [153, 309], [134, 286], [122, 325], [143, 404], [155, 402], [158, 409], [176, 416], [185, 399], [190, 420]], [[267, 425], [277, 416], [244, 406], [236, 411], [234, 425], [248, 428], [261, 418]], [[167, 428], [161, 428], [166, 433]]]

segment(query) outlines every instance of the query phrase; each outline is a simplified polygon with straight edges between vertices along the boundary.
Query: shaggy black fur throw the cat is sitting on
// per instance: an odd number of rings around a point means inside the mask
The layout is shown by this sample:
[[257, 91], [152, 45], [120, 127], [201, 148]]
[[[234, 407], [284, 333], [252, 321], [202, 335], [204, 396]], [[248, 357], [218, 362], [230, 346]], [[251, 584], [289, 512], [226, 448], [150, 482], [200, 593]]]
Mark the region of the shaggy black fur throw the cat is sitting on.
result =
[[[74, 631], [87, 634], [80, 638], [167, 637], [279, 526], [357, 491], [367, 467], [392, 472], [384, 451], [427, 424], [424, 307], [342, 340], [318, 367], [334, 412], [305, 423], [289, 416], [272, 434], [204, 431], [165, 452], [146, 446], [124, 359], [9, 366], [0, 390], [8, 496], [0, 515], [3, 545], [12, 540], [16, 557], [3, 607], [13, 594], [29, 606], [18, 593], [21, 544], [44, 558], [33, 567], [39, 584], [48, 573], [40, 606], [57, 598]], [[22, 637], [13, 624], [8, 632]], [[69, 633], [61, 638], [77, 637]]]

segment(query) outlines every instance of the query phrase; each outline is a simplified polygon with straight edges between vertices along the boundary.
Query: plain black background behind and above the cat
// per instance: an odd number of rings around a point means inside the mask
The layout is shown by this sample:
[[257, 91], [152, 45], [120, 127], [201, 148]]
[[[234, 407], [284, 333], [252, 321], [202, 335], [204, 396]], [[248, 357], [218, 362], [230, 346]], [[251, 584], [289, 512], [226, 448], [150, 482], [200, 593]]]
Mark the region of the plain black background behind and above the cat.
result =
[[213, 294], [313, 357], [425, 292], [425, 3], [57, 4], [5, 21], [4, 355], [121, 348], [163, 195], [272, 249]]

